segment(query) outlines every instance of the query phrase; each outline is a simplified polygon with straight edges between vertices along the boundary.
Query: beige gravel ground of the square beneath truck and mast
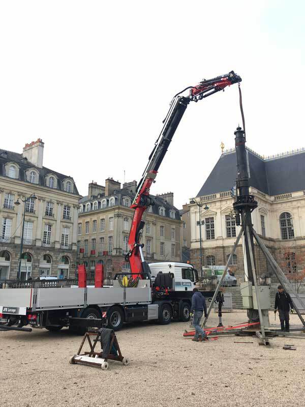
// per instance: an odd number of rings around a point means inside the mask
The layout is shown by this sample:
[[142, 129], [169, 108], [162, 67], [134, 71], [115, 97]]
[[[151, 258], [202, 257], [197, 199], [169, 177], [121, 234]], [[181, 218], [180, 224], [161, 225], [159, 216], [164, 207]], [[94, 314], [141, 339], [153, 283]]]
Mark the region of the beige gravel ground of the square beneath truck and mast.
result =
[[[245, 322], [246, 313], [225, 313], [223, 321]], [[291, 323], [298, 323], [297, 316]], [[217, 324], [212, 313], [209, 325]], [[127, 325], [117, 338], [131, 364], [112, 362], [108, 371], [69, 364], [81, 337], [67, 329], [1, 332], [0, 405], [304, 406], [303, 339], [275, 338], [270, 347], [259, 346], [255, 337], [193, 342], [182, 336], [184, 329], [189, 323]], [[284, 351], [284, 344], [297, 350]]]

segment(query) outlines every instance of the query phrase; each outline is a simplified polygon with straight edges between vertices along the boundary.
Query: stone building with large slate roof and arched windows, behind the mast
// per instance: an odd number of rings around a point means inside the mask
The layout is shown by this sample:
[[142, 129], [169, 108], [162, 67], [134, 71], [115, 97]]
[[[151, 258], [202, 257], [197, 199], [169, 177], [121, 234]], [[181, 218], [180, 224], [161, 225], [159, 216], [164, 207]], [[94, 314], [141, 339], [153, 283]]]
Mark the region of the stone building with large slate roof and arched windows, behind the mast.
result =
[[[247, 150], [250, 193], [258, 201], [254, 229], [286, 273], [305, 268], [305, 150], [262, 157]], [[197, 194], [201, 207], [203, 265], [225, 265], [239, 227], [235, 226], [231, 189], [235, 185], [235, 150], [223, 153]], [[207, 205], [208, 209], [203, 208]], [[199, 208], [191, 212], [191, 262], [200, 269]], [[265, 257], [255, 244], [258, 275], [269, 275]], [[244, 278], [242, 244], [232, 260], [235, 276]]]

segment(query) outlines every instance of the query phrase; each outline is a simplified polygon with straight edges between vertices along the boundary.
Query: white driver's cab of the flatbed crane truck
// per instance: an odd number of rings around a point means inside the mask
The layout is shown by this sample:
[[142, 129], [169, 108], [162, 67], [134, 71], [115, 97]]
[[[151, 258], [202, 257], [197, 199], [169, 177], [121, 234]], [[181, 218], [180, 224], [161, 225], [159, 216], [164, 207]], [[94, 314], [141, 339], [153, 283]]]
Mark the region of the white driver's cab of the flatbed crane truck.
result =
[[151, 272], [152, 283], [154, 283], [159, 272], [163, 274], [172, 273], [174, 275], [173, 291], [193, 291], [198, 281], [198, 272], [191, 264], [162, 261], [162, 263], [150, 263], [148, 266]]

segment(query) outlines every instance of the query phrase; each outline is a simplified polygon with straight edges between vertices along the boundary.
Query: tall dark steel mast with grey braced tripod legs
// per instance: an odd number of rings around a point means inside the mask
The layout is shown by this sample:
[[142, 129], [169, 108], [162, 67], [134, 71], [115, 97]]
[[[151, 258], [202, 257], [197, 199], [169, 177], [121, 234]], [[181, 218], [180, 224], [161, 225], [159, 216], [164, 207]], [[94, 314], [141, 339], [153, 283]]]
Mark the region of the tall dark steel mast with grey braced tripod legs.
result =
[[[264, 344], [269, 344], [268, 338], [266, 335], [266, 330], [269, 330], [269, 324], [266, 323], [266, 318], [268, 318], [268, 311], [261, 309], [260, 304], [260, 293], [257, 284], [257, 276], [256, 276], [256, 265], [255, 265], [255, 253], [254, 253], [254, 239], [256, 240], [259, 248], [262, 250], [267, 263], [270, 265], [273, 273], [278, 277], [279, 281], [283, 285], [284, 289], [288, 293], [293, 293], [295, 298], [299, 301], [300, 304], [305, 308], [305, 305], [302, 302], [302, 299], [298, 296], [295, 292], [292, 284], [289, 282], [283, 271], [280, 269], [276, 260], [271, 256], [270, 252], [257, 235], [256, 231], [253, 228], [252, 224], [252, 212], [257, 208], [257, 201], [255, 200], [253, 195], [249, 193], [249, 173], [248, 173], [248, 162], [247, 162], [247, 152], [246, 152], [246, 137], [245, 132], [240, 128], [237, 127], [236, 131], [234, 132], [235, 135], [235, 151], [236, 151], [236, 161], [237, 161], [237, 177], [236, 177], [236, 200], [233, 203], [233, 210], [235, 214], [235, 224], [237, 226], [241, 226], [231, 254], [228, 258], [224, 273], [218, 283], [216, 288], [215, 294], [211, 300], [207, 311], [207, 317], [204, 319], [202, 328], [206, 325], [208, 316], [210, 311], [214, 305], [215, 299], [221, 288], [221, 285], [225, 279], [231, 258], [236, 251], [236, 247], [240, 241], [240, 238], [243, 238], [243, 247], [245, 250], [244, 253], [244, 265], [245, 265], [245, 275], [246, 281], [249, 281], [252, 286], [255, 287], [255, 295], [257, 300], [257, 310], [256, 309], [248, 309], [248, 318], [250, 323], [256, 322], [259, 318], [260, 322], [260, 331], [256, 332], [256, 335], [260, 339], [260, 341]], [[293, 302], [294, 309], [296, 310], [298, 317], [303, 325], [302, 329], [299, 331], [305, 330], [305, 321], [302, 318], [295, 302]], [[257, 311], [257, 312], [256, 312]], [[265, 326], [267, 325], [267, 326]], [[234, 332], [230, 332], [231, 334]], [[301, 336], [301, 335], [300, 335]], [[304, 335], [303, 335], [304, 336]]]

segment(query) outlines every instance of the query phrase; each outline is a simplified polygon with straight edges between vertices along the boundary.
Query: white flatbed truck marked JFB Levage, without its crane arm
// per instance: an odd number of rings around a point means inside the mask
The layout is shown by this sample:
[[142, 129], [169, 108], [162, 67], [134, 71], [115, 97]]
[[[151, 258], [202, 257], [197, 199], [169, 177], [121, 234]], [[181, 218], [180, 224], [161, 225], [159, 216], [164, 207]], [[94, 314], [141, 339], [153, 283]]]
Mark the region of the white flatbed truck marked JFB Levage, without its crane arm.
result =
[[[0, 327], [18, 330], [29, 325], [58, 331], [69, 326], [70, 317], [100, 319], [105, 315], [108, 327], [116, 331], [124, 322], [153, 320], [165, 325], [172, 319], [189, 321], [197, 271], [190, 264], [174, 262], [153, 263], [149, 268], [151, 279], [139, 279], [134, 288], [121, 286], [118, 279], [113, 280], [113, 286], [102, 288], [58, 286], [60, 280], [58, 284], [53, 280], [25, 281], [24, 288], [2, 288]], [[159, 272], [171, 276], [168, 287], [156, 287]]]

